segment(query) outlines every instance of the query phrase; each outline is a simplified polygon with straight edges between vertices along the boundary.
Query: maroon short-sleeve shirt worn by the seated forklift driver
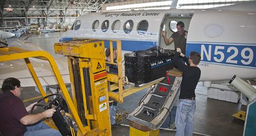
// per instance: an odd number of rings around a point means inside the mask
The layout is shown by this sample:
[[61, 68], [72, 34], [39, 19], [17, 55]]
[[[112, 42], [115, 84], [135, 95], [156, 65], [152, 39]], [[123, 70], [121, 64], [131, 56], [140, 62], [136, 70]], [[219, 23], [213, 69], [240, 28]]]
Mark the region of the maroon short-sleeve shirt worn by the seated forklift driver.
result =
[[28, 115], [20, 98], [12, 92], [0, 95], [0, 132], [2, 135], [24, 135], [26, 126], [20, 119]]

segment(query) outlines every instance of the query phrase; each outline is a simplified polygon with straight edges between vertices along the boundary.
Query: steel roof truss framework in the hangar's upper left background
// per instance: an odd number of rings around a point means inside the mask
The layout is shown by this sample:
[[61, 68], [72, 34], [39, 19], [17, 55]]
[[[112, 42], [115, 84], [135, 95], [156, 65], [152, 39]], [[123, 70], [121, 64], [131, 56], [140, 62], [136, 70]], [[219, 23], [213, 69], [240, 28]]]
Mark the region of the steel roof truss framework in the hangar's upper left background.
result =
[[[98, 12], [107, 0], [2, 0], [0, 2], [1, 22], [25, 19], [29, 24], [30, 18], [43, 19], [43, 24], [48, 24], [48, 18], [59, 18], [65, 22], [66, 18], [83, 15], [88, 12]], [[35, 12], [41, 15], [35, 15]], [[75, 13], [74, 13], [75, 12]], [[70, 15], [70, 14], [75, 15]], [[50, 16], [54, 14], [54, 16]]]

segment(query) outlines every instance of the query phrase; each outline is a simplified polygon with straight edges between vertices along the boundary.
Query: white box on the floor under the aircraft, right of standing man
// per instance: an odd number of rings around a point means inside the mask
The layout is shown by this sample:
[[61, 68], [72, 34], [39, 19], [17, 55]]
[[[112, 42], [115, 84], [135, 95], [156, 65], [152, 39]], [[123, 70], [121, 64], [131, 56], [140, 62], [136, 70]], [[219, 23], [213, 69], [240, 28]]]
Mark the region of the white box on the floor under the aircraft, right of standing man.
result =
[[237, 103], [240, 99], [240, 92], [232, 86], [211, 84], [211, 87], [207, 89], [207, 97]]

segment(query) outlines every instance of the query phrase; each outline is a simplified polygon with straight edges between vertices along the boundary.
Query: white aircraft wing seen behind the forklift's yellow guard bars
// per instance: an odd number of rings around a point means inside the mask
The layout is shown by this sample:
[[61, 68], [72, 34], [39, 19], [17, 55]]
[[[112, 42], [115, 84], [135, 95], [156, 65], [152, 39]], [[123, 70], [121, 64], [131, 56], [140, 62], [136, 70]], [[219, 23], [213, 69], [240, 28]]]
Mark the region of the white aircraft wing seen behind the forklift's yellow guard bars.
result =
[[[54, 59], [58, 65], [58, 69], [62, 75], [64, 83], [70, 83], [67, 58], [55, 57]], [[42, 86], [58, 84], [48, 61], [35, 58], [30, 58], [30, 61]], [[23, 59], [0, 62], [0, 88], [2, 88], [4, 79], [8, 77], [18, 78], [21, 82], [21, 86], [23, 87], [36, 86], [36, 83]]]

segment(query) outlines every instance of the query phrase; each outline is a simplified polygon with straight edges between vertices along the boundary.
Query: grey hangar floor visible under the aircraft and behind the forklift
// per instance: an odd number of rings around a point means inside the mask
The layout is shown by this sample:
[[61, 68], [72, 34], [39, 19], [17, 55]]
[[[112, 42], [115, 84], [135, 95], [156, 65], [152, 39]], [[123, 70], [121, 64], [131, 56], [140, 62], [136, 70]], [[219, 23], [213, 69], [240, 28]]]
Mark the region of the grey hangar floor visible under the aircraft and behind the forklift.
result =
[[[50, 35], [34, 35], [29, 38], [33, 43], [42, 46], [43, 49], [48, 50], [49, 53], [54, 54], [53, 44], [58, 42], [62, 32], [54, 32]], [[23, 100], [31, 97], [39, 96], [35, 93], [34, 87], [24, 88], [21, 98]], [[126, 109], [132, 112], [143, 94], [147, 90], [132, 94], [124, 98], [124, 103], [118, 105], [119, 111]], [[231, 116], [240, 108], [245, 109], [246, 106], [240, 104], [229, 103], [226, 101], [214, 100], [207, 98], [207, 88], [198, 87], [196, 93], [197, 109], [194, 115], [194, 135], [242, 135], [243, 122], [234, 121]], [[2, 93], [2, 92], [1, 92]], [[29, 101], [25, 105], [29, 105], [36, 100]], [[123, 124], [129, 124], [127, 120]], [[126, 126], [113, 126], [112, 134], [115, 136], [129, 135], [129, 127]], [[175, 131], [161, 130], [160, 135], [175, 135]]]

